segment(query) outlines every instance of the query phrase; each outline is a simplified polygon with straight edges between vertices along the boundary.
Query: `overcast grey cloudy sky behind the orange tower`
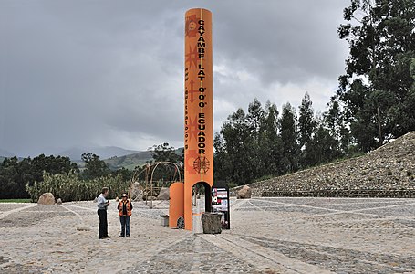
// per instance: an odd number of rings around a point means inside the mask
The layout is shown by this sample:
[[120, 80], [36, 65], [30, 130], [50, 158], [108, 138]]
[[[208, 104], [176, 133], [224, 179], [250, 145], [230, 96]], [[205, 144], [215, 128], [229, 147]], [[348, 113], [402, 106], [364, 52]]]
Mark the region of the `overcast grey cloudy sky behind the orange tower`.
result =
[[183, 145], [184, 13], [213, 12], [214, 129], [257, 98], [326, 109], [349, 0], [0, 0], [0, 149]]

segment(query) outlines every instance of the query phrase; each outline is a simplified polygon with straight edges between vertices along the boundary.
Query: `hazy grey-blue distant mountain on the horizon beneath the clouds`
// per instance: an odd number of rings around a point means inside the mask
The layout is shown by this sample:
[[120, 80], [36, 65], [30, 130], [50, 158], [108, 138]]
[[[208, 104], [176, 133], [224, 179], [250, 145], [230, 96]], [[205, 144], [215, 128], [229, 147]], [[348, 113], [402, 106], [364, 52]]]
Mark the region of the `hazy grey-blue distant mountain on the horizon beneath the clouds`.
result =
[[83, 153], [94, 153], [96, 155], [99, 155], [99, 159], [109, 159], [114, 156], [124, 156], [129, 155], [132, 153], [140, 153], [138, 151], [131, 151], [131, 150], [125, 150], [117, 146], [105, 146], [105, 147], [95, 147], [95, 148], [71, 148], [66, 151], [57, 153], [57, 155], [60, 156], [67, 156], [70, 158], [70, 160], [74, 162], [78, 162], [81, 160], [81, 155]]

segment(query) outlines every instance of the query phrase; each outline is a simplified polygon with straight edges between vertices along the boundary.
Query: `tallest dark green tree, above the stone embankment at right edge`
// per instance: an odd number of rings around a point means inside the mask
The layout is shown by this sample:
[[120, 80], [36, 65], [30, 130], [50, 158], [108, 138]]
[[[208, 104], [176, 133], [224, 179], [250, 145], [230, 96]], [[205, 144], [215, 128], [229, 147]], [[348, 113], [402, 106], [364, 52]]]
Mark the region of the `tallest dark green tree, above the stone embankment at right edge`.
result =
[[415, 129], [415, 2], [351, 0], [344, 18], [348, 23], [338, 34], [348, 41], [350, 55], [337, 95], [352, 135], [368, 151]]

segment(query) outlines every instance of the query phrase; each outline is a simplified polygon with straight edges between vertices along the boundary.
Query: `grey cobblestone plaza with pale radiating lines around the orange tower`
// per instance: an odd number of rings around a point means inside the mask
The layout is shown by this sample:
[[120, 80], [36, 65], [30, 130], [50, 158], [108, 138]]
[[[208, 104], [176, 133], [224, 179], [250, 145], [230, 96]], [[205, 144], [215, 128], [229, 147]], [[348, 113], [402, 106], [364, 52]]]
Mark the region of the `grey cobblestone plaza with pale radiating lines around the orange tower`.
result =
[[415, 199], [232, 199], [219, 235], [161, 227], [153, 206], [119, 238], [112, 201], [99, 240], [93, 202], [0, 204], [0, 273], [415, 273]]

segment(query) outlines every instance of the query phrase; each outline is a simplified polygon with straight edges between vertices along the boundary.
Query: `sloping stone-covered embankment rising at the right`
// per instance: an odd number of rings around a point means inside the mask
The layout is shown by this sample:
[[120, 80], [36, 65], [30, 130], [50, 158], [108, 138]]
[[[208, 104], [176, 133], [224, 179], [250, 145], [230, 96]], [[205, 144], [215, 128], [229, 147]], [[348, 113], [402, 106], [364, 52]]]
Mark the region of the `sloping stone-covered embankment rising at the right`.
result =
[[415, 197], [414, 177], [415, 132], [409, 132], [358, 158], [248, 185], [254, 196]]

